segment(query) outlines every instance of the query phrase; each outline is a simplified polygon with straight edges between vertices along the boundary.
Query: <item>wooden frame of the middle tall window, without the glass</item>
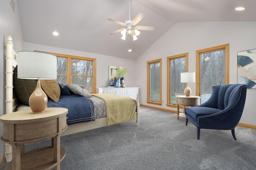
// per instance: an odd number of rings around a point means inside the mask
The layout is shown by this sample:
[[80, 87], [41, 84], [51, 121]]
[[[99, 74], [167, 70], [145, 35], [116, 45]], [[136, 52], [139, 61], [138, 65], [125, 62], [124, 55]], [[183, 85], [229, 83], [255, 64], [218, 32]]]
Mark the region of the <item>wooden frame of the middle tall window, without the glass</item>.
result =
[[178, 55], [173, 55], [170, 57], [167, 57], [167, 99], [166, 99], [166, 105], [167, 107], [174, 107], [177, 108], [177, 105], [174, 103], [170, 103], [171, 99], [171, 75], [170, 75], [170, 71], [171, 71], [171, 66], [170, 66], [170, 61], [172, 59], [177, 59], [177, 58], [182, 58], [185, 57], [186, 59], [186, 72], [188, 72], [188, 53], [182, 53], [182, 54], [178, 54]]

